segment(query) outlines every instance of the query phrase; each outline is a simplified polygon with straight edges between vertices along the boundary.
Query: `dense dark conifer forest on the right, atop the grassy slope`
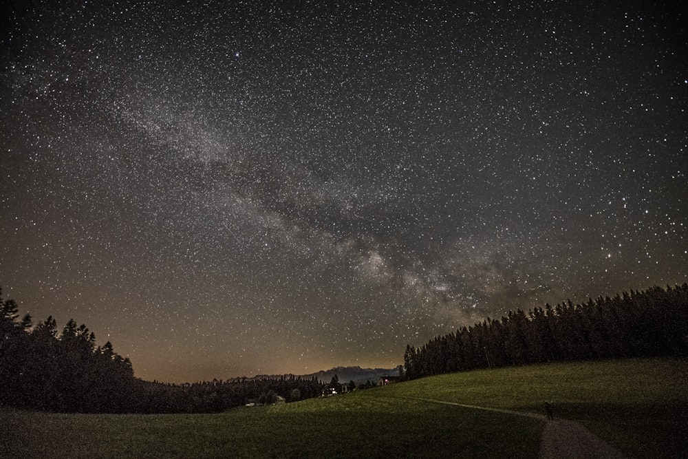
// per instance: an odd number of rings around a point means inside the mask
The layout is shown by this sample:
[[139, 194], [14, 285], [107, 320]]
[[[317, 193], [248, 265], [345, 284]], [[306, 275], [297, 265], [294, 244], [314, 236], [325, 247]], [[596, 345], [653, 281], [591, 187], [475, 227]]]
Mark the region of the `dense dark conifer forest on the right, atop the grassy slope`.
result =
[[407, 345], [405, 377], [550, 361], [688, 355], [688, 284], [623, 292], [524, 312], [510, 310]]

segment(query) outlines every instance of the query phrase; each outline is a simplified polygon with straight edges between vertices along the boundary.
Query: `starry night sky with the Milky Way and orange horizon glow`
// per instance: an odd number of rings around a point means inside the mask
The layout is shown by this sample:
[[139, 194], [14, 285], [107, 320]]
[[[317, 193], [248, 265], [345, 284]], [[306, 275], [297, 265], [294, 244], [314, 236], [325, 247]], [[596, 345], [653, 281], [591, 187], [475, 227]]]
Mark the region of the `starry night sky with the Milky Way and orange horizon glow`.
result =
[[3, 297], [184, 382], [688, 281], [687, 17], [405, 3], [5, 2]]

